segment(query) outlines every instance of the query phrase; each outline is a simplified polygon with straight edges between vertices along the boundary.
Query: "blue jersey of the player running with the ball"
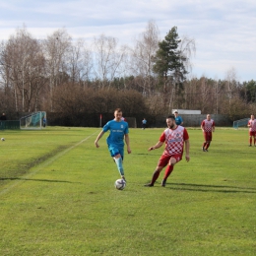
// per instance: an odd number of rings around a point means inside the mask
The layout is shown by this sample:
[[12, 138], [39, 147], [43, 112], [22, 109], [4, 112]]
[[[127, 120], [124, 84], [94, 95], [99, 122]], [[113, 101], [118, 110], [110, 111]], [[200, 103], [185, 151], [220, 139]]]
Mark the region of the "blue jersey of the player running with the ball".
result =
[[110, 131], [109, 136], [106, 138], [108, 148], [123, 148], [124, 147], [124, 135], [129, 133], [128, 123], [125, 121], [117, 122], [111, 120], [103, 126], [103, 131]]

